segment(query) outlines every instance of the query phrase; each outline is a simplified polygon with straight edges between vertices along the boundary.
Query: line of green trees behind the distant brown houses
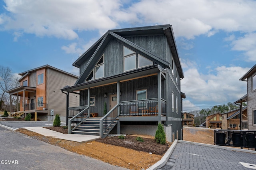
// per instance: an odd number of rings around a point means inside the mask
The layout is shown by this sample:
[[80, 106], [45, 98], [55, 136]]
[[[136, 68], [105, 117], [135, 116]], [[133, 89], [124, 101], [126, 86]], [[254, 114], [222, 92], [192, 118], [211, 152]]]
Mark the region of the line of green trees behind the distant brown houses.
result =
[[[246, 102], [243, 102], [242, 105], [247, 106]], [[189, 113], [194, 115], [194, 124], [201, 125], [202, 123], [205, 122], [206, 116], [213, 115], [216, 113], [226, 113], [228, 111], [232, 111], [238, 108], [239, 108], [238, 105], [228, 102], [227, 104], [213, 106], [210, 109], [196, 110], [196, 111], [191, 111]]]

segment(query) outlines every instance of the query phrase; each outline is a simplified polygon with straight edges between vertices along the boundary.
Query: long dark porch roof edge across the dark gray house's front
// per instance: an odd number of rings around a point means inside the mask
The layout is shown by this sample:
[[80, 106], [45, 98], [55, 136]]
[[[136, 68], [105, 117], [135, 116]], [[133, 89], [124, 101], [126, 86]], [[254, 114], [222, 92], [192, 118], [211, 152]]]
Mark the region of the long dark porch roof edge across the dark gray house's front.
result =
[[72, 87], [66, 87], [64, 89], [61, 89], [61, 91], [67, 91], [67, 92], [80, 91], [82, 89], [88, 89], [89, 87], [96, 87], [96, 86], [100, 86], [100, 85], [116, 83], [117, 81], [125, 81], [128, 79], [135, 79], [136, 77], [147, 76], [147, 75], [151, 75], [151, 74], [159, 73], [159, 72], [160, 72], [160, 69], [158, 68], [158, 65], [152, 65], [150, 67], [144, 67], [141, 69], [128, 71], [128, 72], [125, 72], [125, 73], [122, 73], [119, 75], [114, 75], [114, 76], [106, 77], [106, 78], [102, 78], [102, 79], [96, 79], [96, 80], [89, 81], [86, 83], [74, 85]]

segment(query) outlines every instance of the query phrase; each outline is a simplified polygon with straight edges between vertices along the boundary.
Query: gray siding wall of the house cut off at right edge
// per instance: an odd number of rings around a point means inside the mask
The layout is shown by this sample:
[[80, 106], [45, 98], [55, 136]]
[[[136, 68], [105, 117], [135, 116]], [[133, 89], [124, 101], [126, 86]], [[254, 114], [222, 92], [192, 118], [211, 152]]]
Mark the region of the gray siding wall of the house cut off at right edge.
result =
[[252, 92], [252, 75], [247, 78], [248, 130], [256, 130], [256, 125], [253, 124], [253, 111], [256, 110], [256, 92]]

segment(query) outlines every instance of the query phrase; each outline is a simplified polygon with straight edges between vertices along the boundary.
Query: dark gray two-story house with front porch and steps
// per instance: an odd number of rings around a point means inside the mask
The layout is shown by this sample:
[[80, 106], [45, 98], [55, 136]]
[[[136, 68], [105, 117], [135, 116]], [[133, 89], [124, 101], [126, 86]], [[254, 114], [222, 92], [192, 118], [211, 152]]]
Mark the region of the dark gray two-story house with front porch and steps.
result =
[[68, 107], [69, 132], [155, 135], [164, 124], [168, 141], [182, 139], [184, 78], [171, 25], [109, 30], [74, 63], [80, 77], [62, 89], [80, 95]]

